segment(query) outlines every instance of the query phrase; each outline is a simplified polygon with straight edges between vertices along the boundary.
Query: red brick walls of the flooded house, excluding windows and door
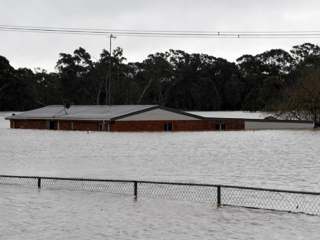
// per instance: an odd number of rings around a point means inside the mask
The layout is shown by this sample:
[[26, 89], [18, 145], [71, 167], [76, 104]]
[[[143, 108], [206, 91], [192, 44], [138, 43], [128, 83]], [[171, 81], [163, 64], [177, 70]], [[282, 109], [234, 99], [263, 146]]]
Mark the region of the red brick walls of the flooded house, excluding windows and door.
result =
[[[24, 126], [26, 129], [46, 129], [46, 120], [15, 120], [16, 128]], [[58, 129], [58, 121], [53, 121], [53, 129]], [[92, 121], [60, 121], [60, 130], [69, 130], [70, 122], [73, 122], [75, 131], [98, 131], [99, 122]], [[113, 121], [110, 123], [110, 131], [116, 132], [140, 132], [163, 131], [164, 123], [172, 122], [173, 131], [215, 131], [215, 124], [227, 124], [227, 130], [244, 130], [244, 121], [213, 121], [213, 120], [150, 120], [150, 121]], [[13, 121], [10, 122], [13, 128]], [[105, 124], [108, 131], [108, 123]]]

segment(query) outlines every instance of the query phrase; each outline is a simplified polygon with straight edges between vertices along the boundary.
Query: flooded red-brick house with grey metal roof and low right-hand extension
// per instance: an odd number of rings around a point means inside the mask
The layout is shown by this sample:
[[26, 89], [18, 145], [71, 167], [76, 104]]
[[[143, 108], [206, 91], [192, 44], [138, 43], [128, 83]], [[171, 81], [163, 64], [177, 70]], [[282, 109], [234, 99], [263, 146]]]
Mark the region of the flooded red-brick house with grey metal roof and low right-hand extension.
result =
[[50, 105], [5, 119], [11, 128], [112, 132], [313, 127], [313, 121], [207, 118], [159, 105]]

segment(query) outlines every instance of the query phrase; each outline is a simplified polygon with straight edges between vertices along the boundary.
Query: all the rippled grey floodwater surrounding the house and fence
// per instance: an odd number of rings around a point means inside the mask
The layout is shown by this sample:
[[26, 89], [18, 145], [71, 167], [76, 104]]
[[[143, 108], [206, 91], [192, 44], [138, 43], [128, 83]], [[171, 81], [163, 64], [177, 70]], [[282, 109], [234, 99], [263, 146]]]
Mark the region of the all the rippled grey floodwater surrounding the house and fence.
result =
[[[10, 129], [0, 174], [196, 182], [320, 192], [320, 131], [102, 133]], [[261, 118], [207, 112], [207, 117]], [[0, 186], [1, 239], [318, 239], [320, 217]]]

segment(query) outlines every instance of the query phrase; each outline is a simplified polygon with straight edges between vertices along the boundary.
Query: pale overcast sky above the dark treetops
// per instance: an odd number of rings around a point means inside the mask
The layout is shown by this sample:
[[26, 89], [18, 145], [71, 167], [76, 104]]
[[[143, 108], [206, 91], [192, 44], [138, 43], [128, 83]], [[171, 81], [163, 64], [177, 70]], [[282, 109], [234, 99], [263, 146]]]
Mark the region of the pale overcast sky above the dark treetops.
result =
[[[319, 0], [0, 0], [0, 25], [157, 31], [320, 31]], [[173, 38], [119, 36], [128, 62], [169, 49], [235, 60], [320, 38]], [[103, 35], [0, 31], [0, 55], [15, 68], [54, 71], [59, 53], [82, 47], [98, 58]]]

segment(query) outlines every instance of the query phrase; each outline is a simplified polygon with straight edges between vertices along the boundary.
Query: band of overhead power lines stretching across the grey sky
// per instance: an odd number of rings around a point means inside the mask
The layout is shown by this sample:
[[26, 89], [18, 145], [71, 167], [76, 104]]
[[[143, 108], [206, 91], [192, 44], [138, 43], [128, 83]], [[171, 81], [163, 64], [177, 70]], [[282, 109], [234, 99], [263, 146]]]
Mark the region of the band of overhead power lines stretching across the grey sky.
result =
[[320, 36], [320, 31], [239, 31], [239, 32], [209, 32], [209, 31], [149, 31], [149, 30], [110, 30], [110, 29], [84, 29], [84, 28], [52, 28], [0, 25], [0, 31], [55, 33], [55, 34], [86, 34], [138, 36], [138, 37], [200, 37], [200, 38], [315, 38]]

